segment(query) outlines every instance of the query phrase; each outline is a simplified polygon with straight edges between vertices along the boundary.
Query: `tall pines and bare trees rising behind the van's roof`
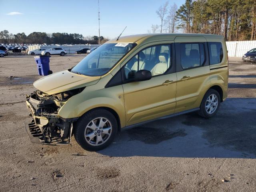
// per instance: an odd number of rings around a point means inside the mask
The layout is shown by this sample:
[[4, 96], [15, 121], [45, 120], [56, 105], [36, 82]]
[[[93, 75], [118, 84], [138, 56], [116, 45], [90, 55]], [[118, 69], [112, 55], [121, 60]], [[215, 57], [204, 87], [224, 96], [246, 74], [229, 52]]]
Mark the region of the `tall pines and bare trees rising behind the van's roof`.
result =
[[256, 40], [256, 0], [186, 0], [179, 8], [168, 2], [156, 14], [149, 33], [218, 34], [225, 40]]

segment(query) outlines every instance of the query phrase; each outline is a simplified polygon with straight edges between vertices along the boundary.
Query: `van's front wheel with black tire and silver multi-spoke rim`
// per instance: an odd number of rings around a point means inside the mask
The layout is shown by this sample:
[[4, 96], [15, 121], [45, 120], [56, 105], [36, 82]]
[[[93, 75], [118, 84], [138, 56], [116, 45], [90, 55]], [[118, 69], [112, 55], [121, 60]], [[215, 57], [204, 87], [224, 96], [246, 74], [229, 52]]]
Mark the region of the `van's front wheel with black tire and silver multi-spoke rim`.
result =
[[[100, 121], [104, 126], [100, 127]], [[98, 151], [112, 143], [118, 125], [115, 116], [108, 110], [93, 109], [81, 116], [74, 128], [75, 140], [83, 149]]]

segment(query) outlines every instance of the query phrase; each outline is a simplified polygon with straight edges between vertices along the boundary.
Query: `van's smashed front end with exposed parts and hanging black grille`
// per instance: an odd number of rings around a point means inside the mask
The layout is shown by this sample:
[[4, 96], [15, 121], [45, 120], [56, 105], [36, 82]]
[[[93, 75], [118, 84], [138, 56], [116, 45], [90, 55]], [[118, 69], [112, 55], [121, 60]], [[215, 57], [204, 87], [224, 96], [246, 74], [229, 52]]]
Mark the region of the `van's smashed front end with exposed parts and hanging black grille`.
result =
[[27, 95], [26, 105], [33, 117], [25, 124], [30, 141], [38, 144], [70, 144], [73, 122], [78, 118], [64, 119], [58, 111], [74, 92], [48, 95], [39, 90]]

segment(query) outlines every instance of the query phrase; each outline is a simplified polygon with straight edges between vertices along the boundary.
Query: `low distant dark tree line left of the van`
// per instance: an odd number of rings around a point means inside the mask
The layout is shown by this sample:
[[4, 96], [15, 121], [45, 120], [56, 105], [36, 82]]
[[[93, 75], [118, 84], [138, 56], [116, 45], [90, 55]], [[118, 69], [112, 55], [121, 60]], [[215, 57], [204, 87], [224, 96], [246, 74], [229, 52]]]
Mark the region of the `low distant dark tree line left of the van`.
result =
[[[8, 30], [0, 32], [1, 43], [18, 43], [18, 44], [98, 44], [98, 36], [86, 36], [77, 33], [45, 33], [32, 32], [28, 36], [24, 32], [12, 34]], [[100, 36], [100, 42], [104, 43], [108, 38]]]

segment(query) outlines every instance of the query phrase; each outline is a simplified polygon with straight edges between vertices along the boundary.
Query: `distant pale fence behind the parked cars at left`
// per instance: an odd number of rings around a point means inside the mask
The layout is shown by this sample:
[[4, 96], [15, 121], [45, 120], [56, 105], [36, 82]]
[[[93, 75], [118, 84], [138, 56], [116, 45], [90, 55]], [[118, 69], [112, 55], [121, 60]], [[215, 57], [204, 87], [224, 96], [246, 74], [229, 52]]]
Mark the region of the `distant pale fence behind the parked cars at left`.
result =
[[50, 48], [54, 48], [54, 47], [60, 47], [60, 48], [64, 48], [67, 50], [68, 54], [73, 54], [75, 53], [76, 51], [80, 50], [80, 49], [83, 49], [83, 48], [94, 48], [94, 47], [98, 47], [99, 45], [61, 45], [61, 46], [38, 46], [38, 45], [30, 45], [28, 46], [28, 50], [29, 51], [32, 51], [32, 50], [36, 50], [36, 49], [39, 49], [39, 48], [42, 48], [42, 49], [50, 49]]

